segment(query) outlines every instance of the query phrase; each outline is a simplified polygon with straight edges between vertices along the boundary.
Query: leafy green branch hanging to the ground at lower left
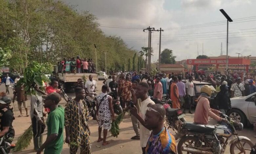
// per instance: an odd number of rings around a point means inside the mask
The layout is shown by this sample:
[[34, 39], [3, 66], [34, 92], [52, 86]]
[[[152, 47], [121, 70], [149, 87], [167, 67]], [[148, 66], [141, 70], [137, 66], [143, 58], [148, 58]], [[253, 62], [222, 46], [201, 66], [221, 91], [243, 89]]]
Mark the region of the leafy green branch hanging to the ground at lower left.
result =
[[32, 137], [32, 125], [30, 125], [29, 128], [21, 136], [19, 136], [17, 143], [15, 143], [16, 146], [13, 151], [17, 152], [27, 148], [31, 143]]

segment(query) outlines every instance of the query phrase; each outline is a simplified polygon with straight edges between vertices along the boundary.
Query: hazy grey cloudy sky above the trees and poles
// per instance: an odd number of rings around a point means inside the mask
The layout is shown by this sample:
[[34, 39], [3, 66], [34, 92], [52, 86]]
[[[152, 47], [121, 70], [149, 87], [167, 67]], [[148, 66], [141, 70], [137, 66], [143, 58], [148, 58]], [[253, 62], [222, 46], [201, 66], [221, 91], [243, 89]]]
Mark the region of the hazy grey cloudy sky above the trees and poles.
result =
[[[226, 54], [224, 9], [234, 22], [229, 24], [229, 55], [256, 56], [255, 0], [63, 0], [97, 16], [100, 27], [109, 36], [120, 36], [130, 48], [148, 46], [148, 26], [164, 30], [161, 50], [172, 49], [176, 60], [202, 54], [219, 56], [221, 42]], [[195, 26], [196, 25], [196, 26]], [[111, 28], [110, 28], [111, 27]], [[119, 28], [112, 28], [119, 27]], [[129, 29], [128, 29], [129, 28]], [[134, 29], [132, 29], [134, 28]], [[159, 32], [152, 33], [154, 56], [159, 53]]]

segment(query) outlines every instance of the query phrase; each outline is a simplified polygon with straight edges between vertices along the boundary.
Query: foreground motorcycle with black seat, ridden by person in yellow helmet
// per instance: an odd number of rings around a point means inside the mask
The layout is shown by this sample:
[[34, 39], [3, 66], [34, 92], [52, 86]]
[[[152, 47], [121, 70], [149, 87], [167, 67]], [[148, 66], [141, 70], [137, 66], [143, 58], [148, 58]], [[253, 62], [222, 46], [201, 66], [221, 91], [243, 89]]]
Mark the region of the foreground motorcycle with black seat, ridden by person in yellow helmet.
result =
[[230, 153], [246, 153], [247, 150], [249, 152], [254, 144], [245, 136], [237, 136], [236, 130], [243, 130], [243, 124], [224, 114], [221, 117], [227, 120], [226, 123], [221, 123], [222, 125], [196, 125], [192, 122], [183, 122], [179, 127], [183, 136], [177, 146], [178, 154], [223, 154], [232, 135], [235, 137], [229, 142]]

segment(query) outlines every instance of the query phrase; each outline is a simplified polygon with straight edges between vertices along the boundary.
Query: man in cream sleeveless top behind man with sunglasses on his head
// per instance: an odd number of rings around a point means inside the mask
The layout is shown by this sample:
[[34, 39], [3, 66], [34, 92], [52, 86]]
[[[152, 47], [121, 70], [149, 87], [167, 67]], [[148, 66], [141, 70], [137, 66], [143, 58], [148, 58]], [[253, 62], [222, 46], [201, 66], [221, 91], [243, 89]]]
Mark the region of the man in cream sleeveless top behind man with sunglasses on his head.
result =
[[141, 82], [136, 87], [136, 97], [141, 99], [141, 106], [138, 111], [137, 107], [129, 107], [130, 112], [134, 115], [140, 122], [139, 124], [139, 135], [140, 135], [140, 146], [142, 148], [142, 153], [145, 154], [146, 145], [151, 134], [151, 129], [149, 130], [144, 125], [144, 119], [146, 118], [146, 108], [154, 105], [155, 103], [148, 97], [149, 86], [145, 82]]

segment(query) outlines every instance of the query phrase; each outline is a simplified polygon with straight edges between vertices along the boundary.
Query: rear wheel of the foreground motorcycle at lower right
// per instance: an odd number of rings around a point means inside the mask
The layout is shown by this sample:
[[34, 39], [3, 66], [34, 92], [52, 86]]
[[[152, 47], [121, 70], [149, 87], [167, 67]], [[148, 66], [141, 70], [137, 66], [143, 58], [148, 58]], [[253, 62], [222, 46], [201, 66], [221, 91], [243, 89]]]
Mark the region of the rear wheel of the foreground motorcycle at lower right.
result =
[[198, 138], [194, 137], [194, 136], [184, 136], [181, 138], [181, 140], [179, 141], [178, 143], [178, 146], [177, 146], [177, 152], [178, 154], [185, 154], [185, 153], [189, 153], [187, 151], [182, 151], [181, 147], [184, 146], [184, 147], [189, 147], [189, 146], [196, 146], [196, 147], [199, 147], [200, 146], [200, 141], [198, 140]]

